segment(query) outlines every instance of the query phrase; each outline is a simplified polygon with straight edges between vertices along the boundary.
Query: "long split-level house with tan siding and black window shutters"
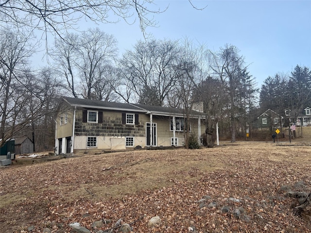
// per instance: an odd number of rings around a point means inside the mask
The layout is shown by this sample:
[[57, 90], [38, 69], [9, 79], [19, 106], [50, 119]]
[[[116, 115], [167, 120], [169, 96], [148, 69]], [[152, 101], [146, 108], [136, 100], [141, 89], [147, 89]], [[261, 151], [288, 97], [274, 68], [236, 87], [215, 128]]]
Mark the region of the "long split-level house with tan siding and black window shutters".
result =
[[[204, 118], [191, 111], [190, 133], [205, 132]], [[56, 154], [183, 146], [185, 120], [183, 109], [63, 97], [56, 111]]]

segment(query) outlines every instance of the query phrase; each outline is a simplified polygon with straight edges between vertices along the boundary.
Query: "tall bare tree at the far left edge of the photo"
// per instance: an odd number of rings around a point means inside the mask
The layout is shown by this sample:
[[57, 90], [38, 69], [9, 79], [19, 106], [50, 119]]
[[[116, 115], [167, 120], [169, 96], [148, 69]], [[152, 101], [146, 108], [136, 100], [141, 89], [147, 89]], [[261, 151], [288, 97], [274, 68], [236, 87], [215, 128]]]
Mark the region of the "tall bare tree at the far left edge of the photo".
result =
[[13, 31], [0, 31], [0, 145], [27, 121], [18, 116], [27, 100], [24, 92], [28, 87], [24, 85], [22, 77], [23, 70], [26, 70], [26, 60], [32, 54], [32, 45], [28, 44], [28, 40], [29, 37]]

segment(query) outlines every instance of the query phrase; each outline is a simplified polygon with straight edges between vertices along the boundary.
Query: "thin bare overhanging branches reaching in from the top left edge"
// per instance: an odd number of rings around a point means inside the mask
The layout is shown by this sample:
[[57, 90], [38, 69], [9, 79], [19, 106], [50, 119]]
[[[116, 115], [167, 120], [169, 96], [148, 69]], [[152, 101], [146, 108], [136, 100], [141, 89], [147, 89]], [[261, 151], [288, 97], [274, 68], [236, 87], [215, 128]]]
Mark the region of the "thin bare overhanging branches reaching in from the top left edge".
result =
[[[165, 9], [164, 9], [165, 10]], [[0, 3], [0, 21], [16, 28], [57, 34], [63, 38], [69, 29], [79, 27], [80, 20], [115, 23], [124, 19], [133, 24], [138, 17], [141, 31], [155, 26], [153, 16], [160, 13], [153, 0], [5, 0]]]

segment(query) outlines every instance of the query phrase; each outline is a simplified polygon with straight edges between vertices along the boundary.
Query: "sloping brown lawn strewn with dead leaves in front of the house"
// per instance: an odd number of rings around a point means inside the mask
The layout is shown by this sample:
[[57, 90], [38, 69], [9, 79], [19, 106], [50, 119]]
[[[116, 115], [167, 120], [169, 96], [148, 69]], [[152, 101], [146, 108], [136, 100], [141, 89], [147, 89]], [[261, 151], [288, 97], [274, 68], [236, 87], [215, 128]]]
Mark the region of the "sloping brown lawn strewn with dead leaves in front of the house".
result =
[[[285, 198], [279, 188], [304, 181], [307, 185], [297, 191], [310, 192], [310, 167], [310, 146], [271, 143], [127, 151], [8, 166], [0, 169], [0, 232], [23, 232], [32, 225], [35, 232], [46, 226], [69, 232], [68, 224], [75, 221], [91, 230], [101, 218], [139, 219], [132, 227], [144, 233], [188, 233], [190, 226], [198, 233], [308, 232], [311, 223], [293, 212], [296, 200]], [[250, 222], [220, 208], [200, 209], [196, 201], [204, 195], [220, 207], [230, 197], [243, 200]], [[258, 221], [257, 214], [264, 220]], [[163, 224], [148, 229], [156, 215]]]

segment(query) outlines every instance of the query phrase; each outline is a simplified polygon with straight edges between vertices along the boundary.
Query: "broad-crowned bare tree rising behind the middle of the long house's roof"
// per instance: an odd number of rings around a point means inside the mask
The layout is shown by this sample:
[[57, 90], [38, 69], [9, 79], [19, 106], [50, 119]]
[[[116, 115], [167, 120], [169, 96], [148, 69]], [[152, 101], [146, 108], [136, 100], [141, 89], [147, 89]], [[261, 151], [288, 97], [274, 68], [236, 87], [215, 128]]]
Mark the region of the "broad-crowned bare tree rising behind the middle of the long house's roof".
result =
[[139, 103], [164, 105], [176, 82], [177, 41], [138, 41], [120, 61], [123, 78]]

